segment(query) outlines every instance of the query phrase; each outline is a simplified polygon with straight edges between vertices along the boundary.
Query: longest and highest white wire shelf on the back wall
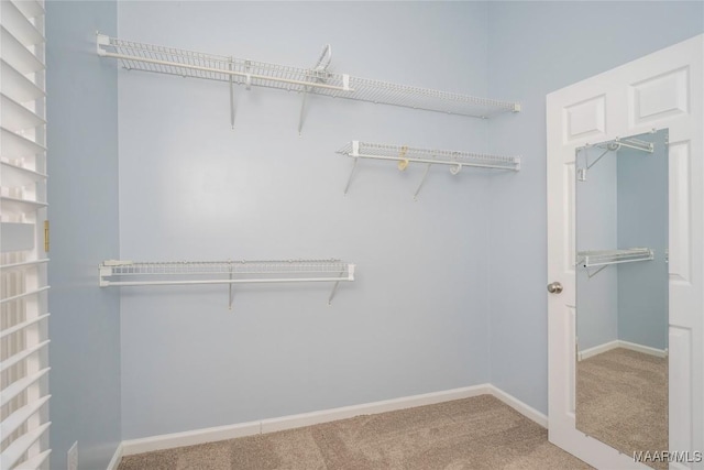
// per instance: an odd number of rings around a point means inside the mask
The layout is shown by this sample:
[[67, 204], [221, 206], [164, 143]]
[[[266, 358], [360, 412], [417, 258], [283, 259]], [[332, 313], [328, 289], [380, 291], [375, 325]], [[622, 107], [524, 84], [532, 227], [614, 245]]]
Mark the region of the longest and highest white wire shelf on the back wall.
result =
[[97, 46], [99, 55], [117, 58], [122, 67], [130, 70], [229, 81], [248, 88], [278, 88], [304, 95], [310, 92], [474, 118], [520, 111], [518, 102], [330, 73], [327, 64], [314, 68], [292, 67], [124, 41], [102, 34], [98, 34]]

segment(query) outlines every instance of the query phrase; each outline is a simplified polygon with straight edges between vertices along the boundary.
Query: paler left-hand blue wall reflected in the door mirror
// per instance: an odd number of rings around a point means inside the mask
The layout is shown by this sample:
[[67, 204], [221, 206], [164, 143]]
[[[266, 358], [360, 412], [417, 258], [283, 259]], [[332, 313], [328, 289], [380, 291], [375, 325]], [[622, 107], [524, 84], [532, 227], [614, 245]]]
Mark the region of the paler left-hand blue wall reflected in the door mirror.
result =
[[[580, 151], [576, 167], [594, 163], [602, 152]], [[585, 181], [576, 182], [578, 252], [618, 248], [617, 179], [616, 155], [609, 152], [587, 170]], [[618, 339], [618, 273], [613, 267], [595, 271], [576, 269], [578, 351]]]

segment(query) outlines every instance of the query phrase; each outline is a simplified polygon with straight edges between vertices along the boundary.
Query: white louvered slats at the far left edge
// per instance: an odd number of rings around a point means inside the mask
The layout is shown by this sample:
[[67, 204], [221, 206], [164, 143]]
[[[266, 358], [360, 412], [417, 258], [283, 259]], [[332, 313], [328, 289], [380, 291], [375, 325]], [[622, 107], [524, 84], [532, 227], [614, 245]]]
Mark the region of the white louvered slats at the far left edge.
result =
[[2, 0], [0, 26], [0, 469], [38, 469], [51, 451], [44, 2]]

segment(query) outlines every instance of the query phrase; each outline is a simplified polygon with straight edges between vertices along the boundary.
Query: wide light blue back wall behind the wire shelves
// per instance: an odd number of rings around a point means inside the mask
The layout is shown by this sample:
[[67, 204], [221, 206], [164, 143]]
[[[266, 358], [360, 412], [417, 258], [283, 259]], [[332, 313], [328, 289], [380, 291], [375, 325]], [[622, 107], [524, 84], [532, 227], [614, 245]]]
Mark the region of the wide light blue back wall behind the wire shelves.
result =
[[[121, 2], [124, 39], [484, 96], [487, 4]], [[488, 381], [491, 177], [362, 161], [346, 142], [485, 150], [486, 123], [119, 73], [120, 247], [132, 260], [341, 258], [329, 285], [122, 289], [123, 438]]]

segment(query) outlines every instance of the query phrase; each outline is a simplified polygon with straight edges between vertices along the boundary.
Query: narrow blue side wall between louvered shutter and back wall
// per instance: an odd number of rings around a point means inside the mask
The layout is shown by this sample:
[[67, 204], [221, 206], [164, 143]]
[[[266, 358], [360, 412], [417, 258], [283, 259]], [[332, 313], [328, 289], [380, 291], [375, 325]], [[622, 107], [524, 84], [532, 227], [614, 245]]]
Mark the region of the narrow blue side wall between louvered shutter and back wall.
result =
[[114, 1], [46, 2], [51, 463], [105, 469], [121, 441], [120, 299], [98, 288], [118, 256], [117, 70], [95, 53], [114, 33]]

